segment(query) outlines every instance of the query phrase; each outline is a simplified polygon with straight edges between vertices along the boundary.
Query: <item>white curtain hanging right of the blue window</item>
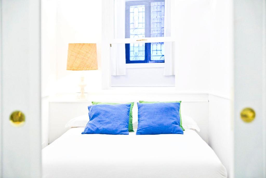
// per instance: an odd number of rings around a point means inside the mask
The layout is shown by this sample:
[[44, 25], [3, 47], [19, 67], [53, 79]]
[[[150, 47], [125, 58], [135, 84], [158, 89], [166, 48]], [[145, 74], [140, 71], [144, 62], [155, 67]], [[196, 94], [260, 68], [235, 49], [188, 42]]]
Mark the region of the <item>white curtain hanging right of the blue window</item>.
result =
[[[164, 36], [171, 36], [171, 0], [164, 1]], [[164, 76], [175, 75], [174, 42], [164, 42]]]

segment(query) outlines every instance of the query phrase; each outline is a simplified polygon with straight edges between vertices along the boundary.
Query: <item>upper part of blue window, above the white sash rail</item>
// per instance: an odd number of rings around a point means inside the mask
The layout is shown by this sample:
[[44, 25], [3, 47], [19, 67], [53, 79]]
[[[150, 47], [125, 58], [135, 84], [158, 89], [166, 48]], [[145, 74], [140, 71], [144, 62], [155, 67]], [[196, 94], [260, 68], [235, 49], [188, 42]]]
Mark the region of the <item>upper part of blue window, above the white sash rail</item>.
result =
[[164, 0], [126, 1], [126, 38], [164, 37]]

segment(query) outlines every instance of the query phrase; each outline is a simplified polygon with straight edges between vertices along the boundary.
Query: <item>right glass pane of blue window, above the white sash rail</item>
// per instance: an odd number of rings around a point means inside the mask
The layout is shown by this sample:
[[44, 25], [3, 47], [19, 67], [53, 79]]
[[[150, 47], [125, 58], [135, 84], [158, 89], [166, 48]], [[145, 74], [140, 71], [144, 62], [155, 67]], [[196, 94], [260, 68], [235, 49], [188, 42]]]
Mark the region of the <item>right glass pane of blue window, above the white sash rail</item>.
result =
[[164, 36], [164, 1], [151, 2], [151, 37]]

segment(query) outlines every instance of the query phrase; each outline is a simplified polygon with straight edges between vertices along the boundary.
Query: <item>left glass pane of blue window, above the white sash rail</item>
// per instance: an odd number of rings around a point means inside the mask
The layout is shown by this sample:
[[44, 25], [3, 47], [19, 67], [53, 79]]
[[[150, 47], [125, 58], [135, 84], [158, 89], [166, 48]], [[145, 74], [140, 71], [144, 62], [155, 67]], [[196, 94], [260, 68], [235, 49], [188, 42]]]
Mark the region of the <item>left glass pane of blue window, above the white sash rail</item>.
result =
[[145, 37], [145, 5], [130, 6], [130, 38]]

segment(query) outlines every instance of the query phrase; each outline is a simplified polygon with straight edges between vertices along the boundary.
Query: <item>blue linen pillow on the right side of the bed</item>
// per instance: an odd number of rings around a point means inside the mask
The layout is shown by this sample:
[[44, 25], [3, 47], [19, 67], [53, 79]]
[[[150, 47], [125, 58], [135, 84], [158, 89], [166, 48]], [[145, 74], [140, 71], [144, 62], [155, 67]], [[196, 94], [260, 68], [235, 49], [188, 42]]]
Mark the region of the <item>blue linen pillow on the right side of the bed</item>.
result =
[[180, 103], [138, 103], [136, 135], [183, 134], [180, 128]]

